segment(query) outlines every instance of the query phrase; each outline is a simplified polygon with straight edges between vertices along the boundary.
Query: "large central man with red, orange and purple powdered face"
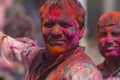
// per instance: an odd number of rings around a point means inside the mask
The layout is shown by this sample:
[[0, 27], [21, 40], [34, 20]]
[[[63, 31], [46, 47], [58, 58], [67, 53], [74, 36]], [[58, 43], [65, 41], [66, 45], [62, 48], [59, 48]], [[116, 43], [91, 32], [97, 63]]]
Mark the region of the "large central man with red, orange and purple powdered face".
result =
[[45, 49], [40, 48], [36, 54], [34, 45], [27, 47], [30, 52], [25, 45], [24, 49], [12, 47], [14, 53], [17, 48], [23, 50], [19, 53], [27, 62], [26, 80], [102, 80], [101, 73], [79, 46], [85, 11], [78, 0], [47, 0], [40, 8], [40, 20]]

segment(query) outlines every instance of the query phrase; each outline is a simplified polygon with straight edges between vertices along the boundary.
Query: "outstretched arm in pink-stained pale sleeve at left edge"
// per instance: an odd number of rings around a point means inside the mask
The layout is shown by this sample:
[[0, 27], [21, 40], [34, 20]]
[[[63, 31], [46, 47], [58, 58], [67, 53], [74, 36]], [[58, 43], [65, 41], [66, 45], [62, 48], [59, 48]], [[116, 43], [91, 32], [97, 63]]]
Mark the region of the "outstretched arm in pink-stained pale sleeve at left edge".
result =
[[[26, 40], [26, 41], [25, 41]], [[23, 63], [27, 68], [39, 47], [29, 39], [16, 40], [0, 32], [0, 64], [14, 66], [14, 62]]]

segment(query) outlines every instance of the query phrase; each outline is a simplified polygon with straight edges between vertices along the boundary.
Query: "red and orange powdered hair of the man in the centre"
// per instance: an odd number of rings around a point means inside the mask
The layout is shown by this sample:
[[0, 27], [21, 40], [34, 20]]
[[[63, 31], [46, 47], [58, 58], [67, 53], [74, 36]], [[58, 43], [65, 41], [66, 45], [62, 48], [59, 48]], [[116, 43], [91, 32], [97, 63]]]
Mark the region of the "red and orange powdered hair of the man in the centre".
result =
[[40, 8], [41, 23], [47, 14], [53, 9], [59, 9], [62, 13], [72, 14], [77, 20], [80, 29], [85, 26], [85, 10], [78, 0], [47, 0]]

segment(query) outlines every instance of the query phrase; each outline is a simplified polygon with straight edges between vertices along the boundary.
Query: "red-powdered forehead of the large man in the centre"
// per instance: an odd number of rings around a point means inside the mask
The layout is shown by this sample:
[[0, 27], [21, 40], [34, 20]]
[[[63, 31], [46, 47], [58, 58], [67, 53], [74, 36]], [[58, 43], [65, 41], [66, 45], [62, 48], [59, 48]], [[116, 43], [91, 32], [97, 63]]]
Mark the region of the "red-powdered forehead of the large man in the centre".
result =
[[48, 11], [46, 15], [44, 15], [44, 19], [52, 19], [52, 20], [59, 20], [59, 21], [68, 21], [75, 18], [75, 12], [73, 8], [69, 7], [68, 9], [61, 9], [58, 7], [54, 7]]

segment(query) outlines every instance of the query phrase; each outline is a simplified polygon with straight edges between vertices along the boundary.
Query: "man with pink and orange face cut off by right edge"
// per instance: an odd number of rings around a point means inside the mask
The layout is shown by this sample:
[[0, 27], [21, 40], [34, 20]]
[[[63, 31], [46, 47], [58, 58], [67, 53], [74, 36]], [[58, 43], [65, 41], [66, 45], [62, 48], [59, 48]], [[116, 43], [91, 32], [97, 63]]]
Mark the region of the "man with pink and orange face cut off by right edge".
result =
[[98, 33], [100, 53], [105, 58], [98, 68], [104, 78], [118, 80], [120, 79], [120, 12], [102, 15], [98, 22]]

